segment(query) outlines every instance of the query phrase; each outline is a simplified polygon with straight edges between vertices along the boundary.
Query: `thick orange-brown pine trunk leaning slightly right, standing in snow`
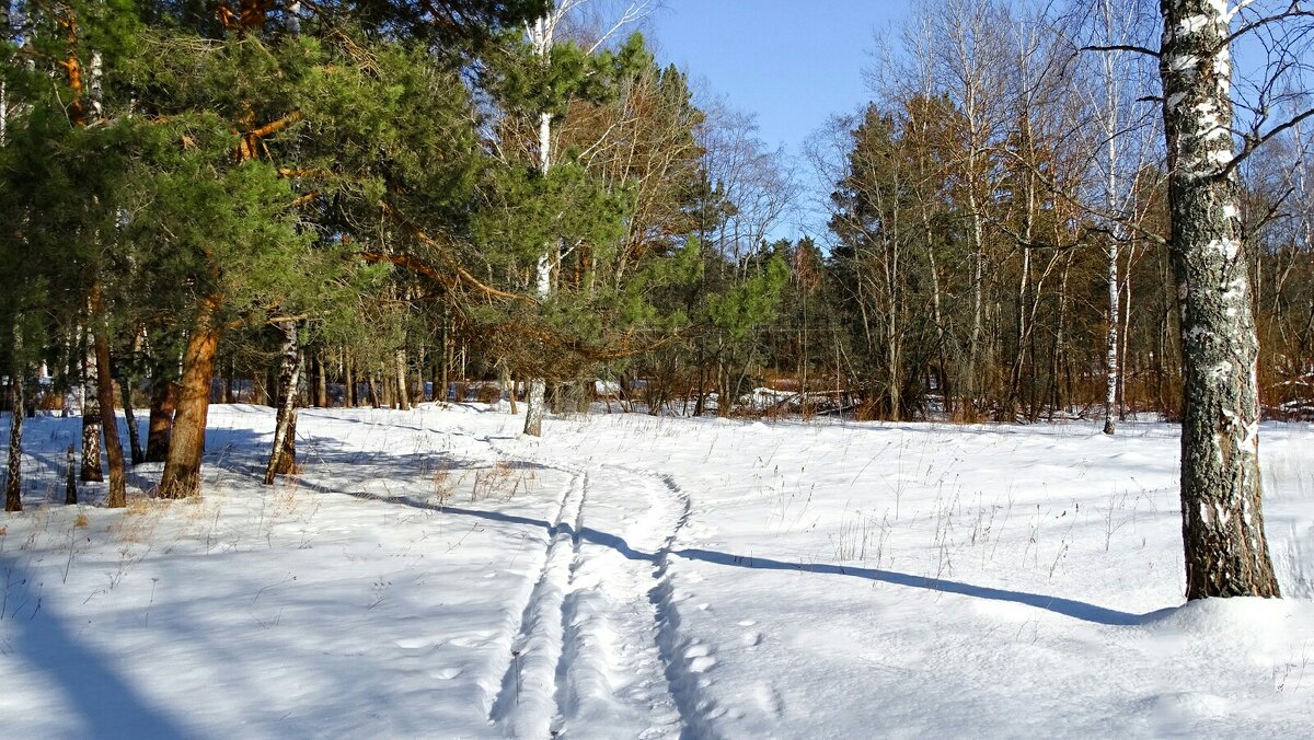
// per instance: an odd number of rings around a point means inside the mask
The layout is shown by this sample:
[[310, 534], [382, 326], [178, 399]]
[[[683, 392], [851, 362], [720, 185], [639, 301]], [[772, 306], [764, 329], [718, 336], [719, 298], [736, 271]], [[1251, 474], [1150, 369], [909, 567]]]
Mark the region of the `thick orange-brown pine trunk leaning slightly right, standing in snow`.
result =
[[179, 386], [173, 432], [160, 477], [160, 498], [188, 498], [201, 493], [201, 453], [205, 451], [205, 423], [210, 411], [210, 379], [219, 331], [213, 326], [219, 297], [202, 301], [196, 327], [183, 354], [183, 380]]

